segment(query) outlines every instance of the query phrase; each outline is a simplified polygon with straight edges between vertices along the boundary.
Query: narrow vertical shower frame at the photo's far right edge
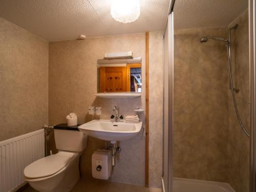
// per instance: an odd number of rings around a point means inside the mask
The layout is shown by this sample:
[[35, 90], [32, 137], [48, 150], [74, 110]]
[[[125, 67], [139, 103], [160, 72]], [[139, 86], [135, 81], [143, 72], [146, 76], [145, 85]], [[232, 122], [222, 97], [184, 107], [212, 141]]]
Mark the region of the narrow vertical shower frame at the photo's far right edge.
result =
[[256, 0], [249, 1], [250, 192], [256, 191]]

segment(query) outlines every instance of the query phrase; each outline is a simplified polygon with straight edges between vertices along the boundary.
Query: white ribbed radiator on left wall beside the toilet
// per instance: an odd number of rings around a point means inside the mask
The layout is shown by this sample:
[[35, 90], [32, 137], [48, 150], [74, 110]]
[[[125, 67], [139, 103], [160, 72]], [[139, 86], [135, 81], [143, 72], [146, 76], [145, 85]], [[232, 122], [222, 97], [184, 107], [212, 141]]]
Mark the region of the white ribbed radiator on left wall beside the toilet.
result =
[[0, 141], [0, 192], [24, 185], [24, 168], [44, 156], [44, 129]]

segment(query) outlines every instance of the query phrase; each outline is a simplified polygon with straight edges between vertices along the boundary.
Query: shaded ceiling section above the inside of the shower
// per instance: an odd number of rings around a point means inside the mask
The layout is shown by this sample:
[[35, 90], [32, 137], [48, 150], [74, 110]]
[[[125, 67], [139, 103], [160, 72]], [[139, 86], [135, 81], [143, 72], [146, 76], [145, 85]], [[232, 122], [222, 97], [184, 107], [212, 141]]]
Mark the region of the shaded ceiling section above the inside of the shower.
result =
[[174, 28], [227, 27], [248, 8], [248, 0], [176, 0]]

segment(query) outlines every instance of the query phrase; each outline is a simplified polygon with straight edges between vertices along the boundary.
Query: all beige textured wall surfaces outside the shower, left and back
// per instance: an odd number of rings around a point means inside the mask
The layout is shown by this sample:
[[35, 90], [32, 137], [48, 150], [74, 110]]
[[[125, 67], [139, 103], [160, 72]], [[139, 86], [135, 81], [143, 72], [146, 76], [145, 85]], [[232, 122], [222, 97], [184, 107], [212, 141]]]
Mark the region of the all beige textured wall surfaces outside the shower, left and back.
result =
[[[0, 140], [40, 129], [48, 124], [48, 42], [36, 37], [4, 19], [0, 19], [0, 75], [2, 133]], [[151, 35], [151, 142], [150, 186], [161, 186], [162, 137], [162, 32]], [[88, 106], [101, 106], [100, 118], [108, 119], [114, 105], [120, 114], [134, 114], [133, 110], [145, 108], [145, 84], [141, 98], [96, 98], [96, 61], [105, 52], [132, 50], [142, 57], [142, 82], [145, 82], [145, 34], [116, 35], [50, 42], [49, 45], [49, 123], [66, 122], [66, 115], [75, 112], [78, 122], [99, 118], [87, 113]], [[15, 94], [13, 94], [15, 93]], [[157, 118], [156, 118], [157, 117]], [[159, 118], [158, 118], [159, 117]], [[140, 118], [144, 122], [144, 114]], [[8, 127], [8, 129], [4, 129]], [[145, 136], [119, 143], [122, 152], [111, 181], [144, 185]], [[53, 142], [53, 135], [51, 135]], [[54, 143], [51, 143], [53, 145]], [[91, 176], [91, 155], [106, 142], [89, 138], [86, 152], [81, 158], [83, 176]]]

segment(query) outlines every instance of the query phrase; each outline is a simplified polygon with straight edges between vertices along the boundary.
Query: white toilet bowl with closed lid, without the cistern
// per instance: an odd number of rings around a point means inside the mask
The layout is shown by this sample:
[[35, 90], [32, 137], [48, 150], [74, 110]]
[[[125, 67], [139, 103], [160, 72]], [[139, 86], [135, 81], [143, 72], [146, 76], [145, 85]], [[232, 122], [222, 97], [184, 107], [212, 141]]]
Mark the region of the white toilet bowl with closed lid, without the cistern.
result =
[[24, 175], [38, 191], [71, 191], [80, 179], [78, 164], [78, 153], [59, 152], [31, 163]]

